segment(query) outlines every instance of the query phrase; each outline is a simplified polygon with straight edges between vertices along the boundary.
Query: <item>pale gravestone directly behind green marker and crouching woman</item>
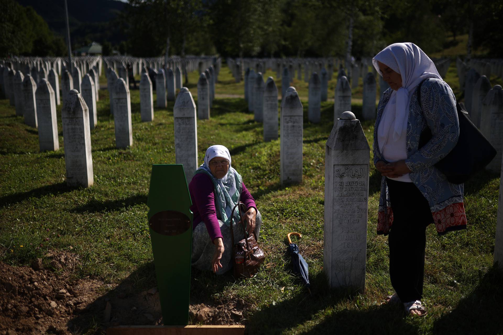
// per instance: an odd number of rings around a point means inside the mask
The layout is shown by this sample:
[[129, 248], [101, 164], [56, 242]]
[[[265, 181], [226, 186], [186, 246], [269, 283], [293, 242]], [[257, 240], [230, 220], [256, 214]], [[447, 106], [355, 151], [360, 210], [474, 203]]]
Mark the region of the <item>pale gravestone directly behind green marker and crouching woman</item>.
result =
[[176, 163], [184, 166], [187, 183], [197, 165], [196, 103], [187, 87], [182, 87], [173, 108]]

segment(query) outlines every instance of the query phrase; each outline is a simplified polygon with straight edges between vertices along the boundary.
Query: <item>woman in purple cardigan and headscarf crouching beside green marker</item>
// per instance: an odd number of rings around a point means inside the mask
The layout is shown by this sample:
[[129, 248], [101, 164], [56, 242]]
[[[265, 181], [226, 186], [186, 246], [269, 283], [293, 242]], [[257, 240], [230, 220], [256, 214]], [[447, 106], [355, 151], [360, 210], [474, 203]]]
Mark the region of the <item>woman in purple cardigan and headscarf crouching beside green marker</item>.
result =
[[[259, 240], [262, 217], [255, 200], [244, 186], [239, 173], [231, 167], [229, 150], [214, 145], [206, 150], [204, 163], [196, 170], [189, 184], [194, 213], [192, 234], [192, 266], [223, 274], [232, 268], [231, 212], [241, 201], [247, 208], [243, 214], [248, 233], [255, 231]], [[234, 211], [233, 233], [236, 242], [244, 238], [236, 225], [239, 214]]]

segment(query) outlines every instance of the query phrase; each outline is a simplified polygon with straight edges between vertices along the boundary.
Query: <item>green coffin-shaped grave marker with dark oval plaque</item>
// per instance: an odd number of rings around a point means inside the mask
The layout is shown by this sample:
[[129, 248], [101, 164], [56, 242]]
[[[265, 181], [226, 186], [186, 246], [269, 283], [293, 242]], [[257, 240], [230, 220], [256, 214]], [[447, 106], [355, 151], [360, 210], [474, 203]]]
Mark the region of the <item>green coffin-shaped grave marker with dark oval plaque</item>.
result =
[[192, 201], [182, 164], [154, 164], [147, 205], [164, 325], [189, 321]]

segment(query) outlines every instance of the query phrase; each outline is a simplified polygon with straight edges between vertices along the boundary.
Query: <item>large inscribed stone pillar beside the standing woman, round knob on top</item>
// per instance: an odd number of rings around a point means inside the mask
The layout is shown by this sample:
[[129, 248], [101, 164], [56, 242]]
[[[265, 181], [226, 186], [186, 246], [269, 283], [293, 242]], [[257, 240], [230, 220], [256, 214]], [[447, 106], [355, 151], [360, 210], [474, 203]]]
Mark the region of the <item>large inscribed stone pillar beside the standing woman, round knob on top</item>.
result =
[[345, 111], [326, 141], [323, 270], [330, 287], [365, 290], [370, 147]]

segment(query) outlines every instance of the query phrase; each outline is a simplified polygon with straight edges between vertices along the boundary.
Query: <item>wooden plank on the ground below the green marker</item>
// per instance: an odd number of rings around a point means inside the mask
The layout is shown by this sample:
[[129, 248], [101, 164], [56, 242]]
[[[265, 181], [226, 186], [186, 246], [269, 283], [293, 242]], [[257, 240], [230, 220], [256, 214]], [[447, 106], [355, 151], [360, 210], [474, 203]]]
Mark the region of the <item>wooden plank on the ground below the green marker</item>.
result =
[[243, 325], [121, 325], [107, 328], [107, 335], [243, 335]]

